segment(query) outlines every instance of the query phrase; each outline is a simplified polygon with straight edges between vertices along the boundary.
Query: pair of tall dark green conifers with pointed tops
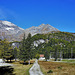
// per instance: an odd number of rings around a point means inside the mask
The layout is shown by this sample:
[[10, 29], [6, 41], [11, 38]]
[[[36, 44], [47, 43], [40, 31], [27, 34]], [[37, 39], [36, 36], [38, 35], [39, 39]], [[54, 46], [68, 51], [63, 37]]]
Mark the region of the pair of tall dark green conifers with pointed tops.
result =
[[32, 39], [31, 39], [31, 34], [28, 34], [28, 37], [25, 38], [25, 34], [24, 37], [22, 39], [21, 42], [21, 46], [20, 46], [20, 56], [19, 58], [21, 60], [23, 60], [24, 62], [26, 60], [30, 60], [32, 58]]

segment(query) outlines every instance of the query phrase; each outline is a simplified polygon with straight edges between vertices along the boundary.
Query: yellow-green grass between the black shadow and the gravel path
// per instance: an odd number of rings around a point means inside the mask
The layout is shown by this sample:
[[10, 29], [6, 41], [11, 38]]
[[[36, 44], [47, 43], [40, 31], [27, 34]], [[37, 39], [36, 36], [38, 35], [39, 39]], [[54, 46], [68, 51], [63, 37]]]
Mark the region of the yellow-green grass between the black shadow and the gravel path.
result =
[[20, 62], [13, 62], [10, 64], [14, 64], [13, 74], [14, 75], [29, 75], [29, 69], [32, 67], [34, 61], [31, 61], [32, 64], [23, 65]]

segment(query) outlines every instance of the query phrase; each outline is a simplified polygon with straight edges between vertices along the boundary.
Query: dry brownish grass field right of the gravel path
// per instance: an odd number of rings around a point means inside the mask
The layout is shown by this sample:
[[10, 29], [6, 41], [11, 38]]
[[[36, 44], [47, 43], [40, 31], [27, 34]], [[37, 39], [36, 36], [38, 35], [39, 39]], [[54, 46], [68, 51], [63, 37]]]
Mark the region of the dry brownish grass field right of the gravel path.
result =
[[[39, 61], [45, 75], [75, 75], [75, 63]], [[49, 70], [53, 73], [47, 73]]]

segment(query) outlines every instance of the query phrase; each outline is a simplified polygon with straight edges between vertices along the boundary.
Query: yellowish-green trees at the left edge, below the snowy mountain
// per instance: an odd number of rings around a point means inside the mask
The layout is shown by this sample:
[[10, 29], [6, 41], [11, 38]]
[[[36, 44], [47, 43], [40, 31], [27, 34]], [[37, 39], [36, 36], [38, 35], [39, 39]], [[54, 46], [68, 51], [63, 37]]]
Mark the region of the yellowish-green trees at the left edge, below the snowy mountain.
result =
[[10, 60], [11, 62], [12, 59], [16, 58], [17, 52], [15, 51], [17, 50], [18, 49], [16, 47], [13, 49], [10, 42], [8, 42], [6, 39], [0, 40], [0, 58], [6, 59], [7, 62]]

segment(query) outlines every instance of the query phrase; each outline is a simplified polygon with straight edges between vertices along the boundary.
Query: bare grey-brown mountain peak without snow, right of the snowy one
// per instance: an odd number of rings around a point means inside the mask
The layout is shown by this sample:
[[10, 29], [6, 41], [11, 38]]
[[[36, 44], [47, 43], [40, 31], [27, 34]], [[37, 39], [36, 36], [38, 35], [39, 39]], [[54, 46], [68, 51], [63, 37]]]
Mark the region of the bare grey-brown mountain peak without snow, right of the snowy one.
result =
[[38, 27], [32, 26], [31, 28], [26, 29], [25, 33], [26, 34], [31, 33], [31, 35], [33, 36], [35, 34], [47, 34], [52, 31], [59, 31], [59, 30], [49, 24], [41, 24]]

